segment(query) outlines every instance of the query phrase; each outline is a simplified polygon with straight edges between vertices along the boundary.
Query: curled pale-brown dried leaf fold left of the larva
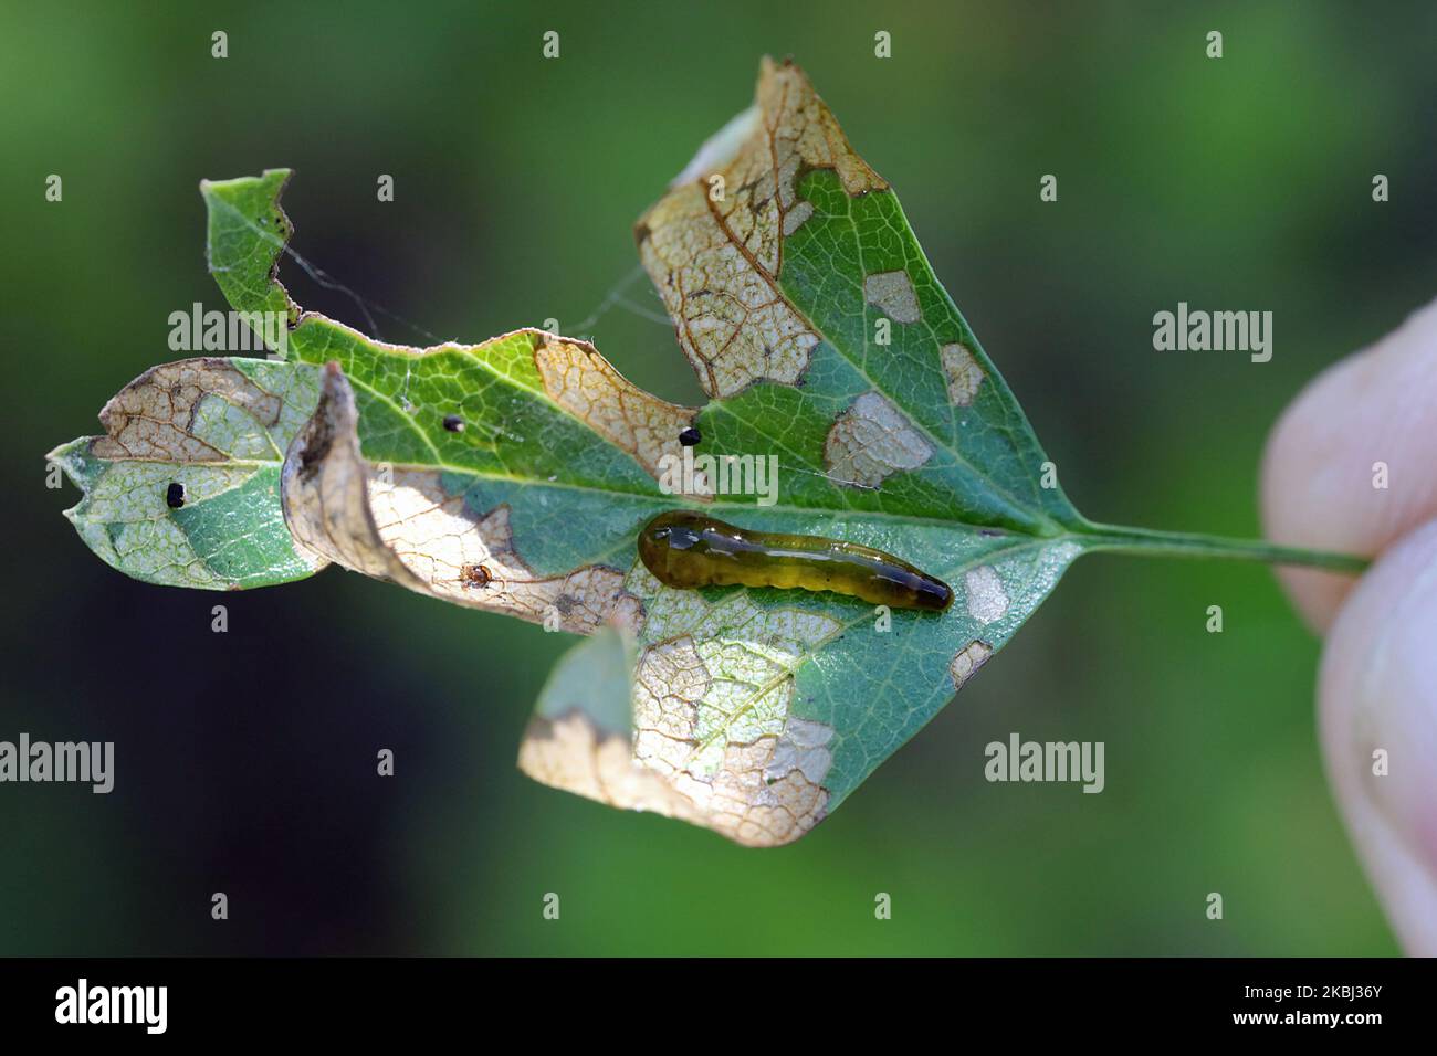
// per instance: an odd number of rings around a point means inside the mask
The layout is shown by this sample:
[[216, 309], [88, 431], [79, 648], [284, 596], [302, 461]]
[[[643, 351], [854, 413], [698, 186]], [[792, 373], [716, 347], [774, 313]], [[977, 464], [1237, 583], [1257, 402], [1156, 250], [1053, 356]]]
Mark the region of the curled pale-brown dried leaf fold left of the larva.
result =
[[[354, 392], [336, 363], [319, 408], [285, 458], [285, 520], [295, 540], [338, 565], [411, 590], [575, 634], [606, 621], [637, 628], [642, 605], [624, 573], [598, 565], [536, 575], [514, 552], [509, 509], [468, 509], [434, 470], [371, 466], [359, 451]], [[484, 569], [486, 579], [474, 569]]]

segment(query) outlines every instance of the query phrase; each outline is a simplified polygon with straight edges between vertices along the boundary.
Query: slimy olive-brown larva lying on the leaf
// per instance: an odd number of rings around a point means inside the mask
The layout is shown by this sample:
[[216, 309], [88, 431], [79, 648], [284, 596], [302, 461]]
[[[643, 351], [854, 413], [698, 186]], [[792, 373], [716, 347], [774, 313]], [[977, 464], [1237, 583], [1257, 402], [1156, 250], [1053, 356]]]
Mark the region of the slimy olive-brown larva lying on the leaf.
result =
[[948, 585], [891, 553], [822, 536], [753, 532], [693, 510], [661, 513], [638, 536], [638, 556], [665, 586], [780, 586], [832, 590], [874, 605], [943, 612]]

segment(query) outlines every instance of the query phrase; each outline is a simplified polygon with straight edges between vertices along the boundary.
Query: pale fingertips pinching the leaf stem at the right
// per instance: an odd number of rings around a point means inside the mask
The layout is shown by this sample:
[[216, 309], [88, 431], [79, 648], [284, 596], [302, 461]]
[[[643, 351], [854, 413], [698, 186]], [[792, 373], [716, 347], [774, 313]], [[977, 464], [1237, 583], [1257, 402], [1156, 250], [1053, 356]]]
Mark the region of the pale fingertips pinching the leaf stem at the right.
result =
[[1398, 941], [1437, 955], [1437, 302], [1298, 395], [1267, 441], [1262, 506], [1277, 543], [1374, 557], [1359, 579], [1280, 578], [1325, 636], [1318, 720], [1352, 842]]

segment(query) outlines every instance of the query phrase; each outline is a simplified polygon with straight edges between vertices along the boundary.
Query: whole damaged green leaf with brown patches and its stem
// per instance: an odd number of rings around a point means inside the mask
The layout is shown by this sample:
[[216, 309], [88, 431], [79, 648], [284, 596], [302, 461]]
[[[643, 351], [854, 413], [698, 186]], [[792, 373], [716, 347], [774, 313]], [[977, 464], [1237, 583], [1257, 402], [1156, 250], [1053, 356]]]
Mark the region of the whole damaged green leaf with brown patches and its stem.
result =
[[[545, 783], [786, 843], [933, 718], [1085, 550], [1355, 566], [1078, 514], [892, 190], [792, 63], [764, 60], [754, 108], [635, 230], [703, 408], [542, 330], [415, 349], [302, 312], [276, 277], [287, 177], [201, 185], [211, 272], [257, 333], [263, 313], [280, 320], [286, 361], [185, 361], [134, 382], [102, 414], [106, 437], [52, 455], [85, 491], [70, 517], [151, 582], [264, 585], [333, 562], [598, 632], [560, 662], [520, 747]], [[674, 496], [693, 428], [717, 461]], [[770, 457], [772, 504], [721, 487]], [[956, 602], [875, 612], [832, 593], [670, 589], [635, 540], [681, 504], [895, 553]]]

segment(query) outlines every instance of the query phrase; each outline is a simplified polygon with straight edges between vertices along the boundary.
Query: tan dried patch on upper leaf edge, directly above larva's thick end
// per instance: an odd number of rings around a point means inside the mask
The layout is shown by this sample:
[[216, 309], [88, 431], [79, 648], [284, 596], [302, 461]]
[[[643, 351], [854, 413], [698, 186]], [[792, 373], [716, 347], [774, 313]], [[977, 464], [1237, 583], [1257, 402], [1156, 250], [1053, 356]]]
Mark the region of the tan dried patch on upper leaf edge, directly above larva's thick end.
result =
[[683, 457], [678, 434], [694, 424], [696, 407], [680, 407], [634, 385], [588, 342], [543, 335], [535, 365], [545, 392], [559, 407], [628, 451], [654, 478], [664, 455]]

